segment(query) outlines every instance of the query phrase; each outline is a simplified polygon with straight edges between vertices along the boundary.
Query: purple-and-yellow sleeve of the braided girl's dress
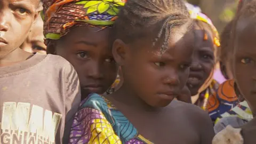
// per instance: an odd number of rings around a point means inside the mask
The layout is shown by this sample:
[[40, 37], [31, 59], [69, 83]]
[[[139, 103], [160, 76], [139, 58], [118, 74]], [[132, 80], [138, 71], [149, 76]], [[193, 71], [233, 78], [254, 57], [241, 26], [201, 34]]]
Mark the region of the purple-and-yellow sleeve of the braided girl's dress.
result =
[[69, 143], [122, 143], [103, 113], [85, 107], [76, 113]]

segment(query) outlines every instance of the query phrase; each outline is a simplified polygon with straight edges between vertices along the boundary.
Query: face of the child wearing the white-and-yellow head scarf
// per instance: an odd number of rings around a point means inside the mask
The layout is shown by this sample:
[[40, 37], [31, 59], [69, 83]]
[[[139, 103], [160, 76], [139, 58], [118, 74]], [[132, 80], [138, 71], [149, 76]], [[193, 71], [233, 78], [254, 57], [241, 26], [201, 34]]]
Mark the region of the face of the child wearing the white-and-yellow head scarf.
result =
[[207, 34], [207, 40], [204, 39], [203, 30], [195, 29], [193, 32], [195, 39], [186, 42], [190, 44], [190, 49], [194, 49], [193, 60], [190, 66], [187, 82], [191, 95], [198, 93], [200, 87], [210, 76], [215, 63], [212, 36], [208, 30], [205, 30], [205, 32]]

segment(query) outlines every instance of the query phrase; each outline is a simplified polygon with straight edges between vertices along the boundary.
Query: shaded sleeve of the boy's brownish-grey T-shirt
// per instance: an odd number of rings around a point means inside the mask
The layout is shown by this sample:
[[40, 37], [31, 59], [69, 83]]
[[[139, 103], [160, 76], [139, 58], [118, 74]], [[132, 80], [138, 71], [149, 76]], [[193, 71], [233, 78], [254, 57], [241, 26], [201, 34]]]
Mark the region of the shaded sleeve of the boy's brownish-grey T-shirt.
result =
[[71, 66], [70, 63], [68, 63], [68, 65], [65, 66], [64, 87], [64, 95], [66, 100], [65, 103], [63, 103], [63, 105], [65, 105], [66, 109], [66, 119], [62, 143], [68, 143], [73, 118], [78, 110], [79, 103], [81, 102], [79, 79], [75, 69], [73, 68], [73, 66]]

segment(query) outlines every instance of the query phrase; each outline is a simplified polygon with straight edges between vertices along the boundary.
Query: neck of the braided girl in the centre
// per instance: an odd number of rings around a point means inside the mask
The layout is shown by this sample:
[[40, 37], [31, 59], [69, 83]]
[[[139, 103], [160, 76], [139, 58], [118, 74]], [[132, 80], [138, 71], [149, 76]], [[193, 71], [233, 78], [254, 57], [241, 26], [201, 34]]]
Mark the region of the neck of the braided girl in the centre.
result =
[[117, 101], [118, 103], [122, 103], [122, 105], [132, 107], [133, 109], [145, 111], [158, 111], [160, 109], [149, 106], [130, 89], [130, 86], [127, 86], [125, 83], [123, 83], [120, 89], [118, 89], [115, 93], [111, 95], [111, 97], [115, 99], [115, 101]]

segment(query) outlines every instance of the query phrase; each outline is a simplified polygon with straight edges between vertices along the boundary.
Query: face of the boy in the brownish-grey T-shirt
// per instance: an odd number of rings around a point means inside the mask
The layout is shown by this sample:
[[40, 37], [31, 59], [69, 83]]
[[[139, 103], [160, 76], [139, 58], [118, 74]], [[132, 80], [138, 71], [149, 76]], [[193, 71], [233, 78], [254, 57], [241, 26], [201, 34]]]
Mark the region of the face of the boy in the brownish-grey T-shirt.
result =
[[37, 0], [0, 1], [0, 58], [17, 49], [38, 16]]

